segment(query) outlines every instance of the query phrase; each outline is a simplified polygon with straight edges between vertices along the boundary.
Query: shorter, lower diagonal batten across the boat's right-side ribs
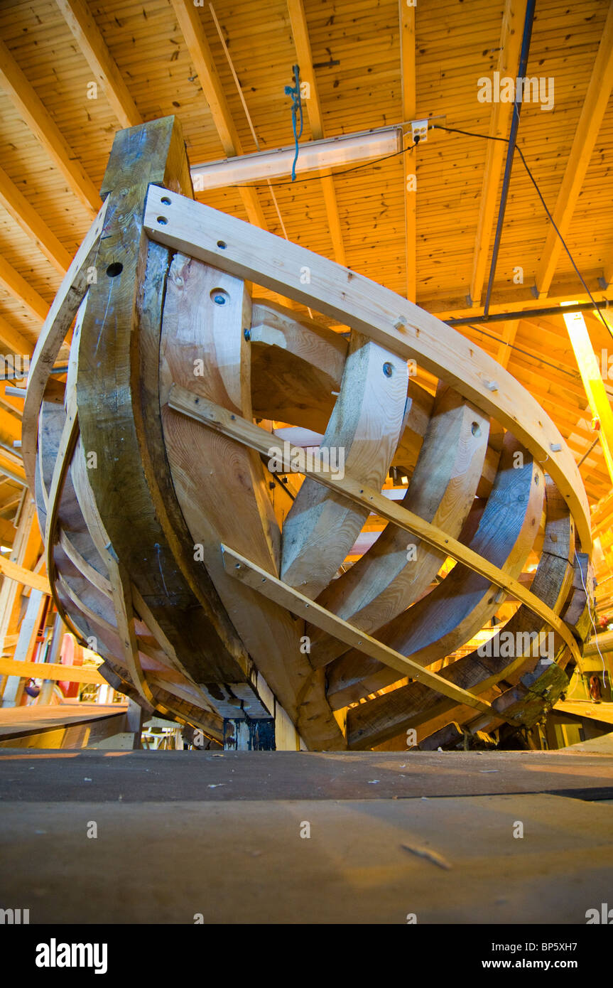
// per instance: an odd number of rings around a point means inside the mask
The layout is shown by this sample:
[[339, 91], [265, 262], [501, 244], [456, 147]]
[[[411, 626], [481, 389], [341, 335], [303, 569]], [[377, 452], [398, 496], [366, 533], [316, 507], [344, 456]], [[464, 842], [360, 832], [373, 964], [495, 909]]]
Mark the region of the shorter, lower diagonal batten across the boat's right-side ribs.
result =
[[372, 638], [359, 628], [353, 627], [341, 617], [333, 615], [332, 612], [326, 611], [325, 608], [322, 608], [315, 601], [310, 601], [308, 597], [304, 597], [299, 591], [294, 590], [286, 583], [271, 576], [267, 570], [257, 566], [250, 559], [247, 559], [234, 549], [229, 548], [227, 545], [222, 545], [221, 550], [226, 572], [235, 579], [247, 584], [247, 586], [257, 590], [264, 597], [268, 597], [268, 600], [277, 602], [292, 614], [298, 615], [298, 617], [308, 618], [313, 624], [317, 624], [318, 627], [323, 628], [329, 634], [340, 637], [347, 645], [351, 645], [367, 655], [375, 656], [379, 661], [389, 665], [390, 668], [396, 669], [401, 675], [410, 675], [415, 679], [421, 680], [421, 683], [429, 687], [429, 689], [436, 690], [437, 693], [443, 696], [450, 697], [459, 702], [468, 703], [470, 706], [483, 712], [487, 712], [490, 709], [489, 703], [478, 700], [465, 690], [450, 687], [436, 673], [431, 673], [427, 669], [421, 668], [421, 666], [413, 663], [411, 659], [407, 659], [404, 655], [401, 655], [400, 652], [395, 652], [386, 645], [382, 645], [376, 638]]

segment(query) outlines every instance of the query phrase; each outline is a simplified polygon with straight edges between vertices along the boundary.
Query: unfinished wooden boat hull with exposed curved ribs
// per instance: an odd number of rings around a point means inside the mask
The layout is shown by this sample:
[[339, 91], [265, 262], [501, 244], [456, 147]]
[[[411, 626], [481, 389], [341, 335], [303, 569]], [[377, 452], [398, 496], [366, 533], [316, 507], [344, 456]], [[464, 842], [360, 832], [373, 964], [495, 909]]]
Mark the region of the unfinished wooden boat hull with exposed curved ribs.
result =
[[[193, 202], [174, 118], [116, 135], [102, 194], [38, 342], [23, 452], [56, 606], [109, 682], [215, 741], [275, 717], [309, 749], [542, 718], [593, 581], [575, 460], [535, 399], [415, 304]], [[324, 436], [312, 462], [287, 461], [299, 429]]]

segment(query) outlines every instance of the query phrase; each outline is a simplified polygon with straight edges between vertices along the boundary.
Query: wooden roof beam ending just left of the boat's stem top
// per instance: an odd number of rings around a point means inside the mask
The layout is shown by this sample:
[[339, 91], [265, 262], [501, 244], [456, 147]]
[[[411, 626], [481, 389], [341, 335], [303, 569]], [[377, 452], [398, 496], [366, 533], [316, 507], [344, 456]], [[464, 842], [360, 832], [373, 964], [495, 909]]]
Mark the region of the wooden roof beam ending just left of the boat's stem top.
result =
[[44, 109], [33, 86], [22, 72], [4, 41], [0, 41], [0, 86], [48, 156], [60, 170], [70, 189], [91, 215], [100, 208], [100, 196], [63, 134]]

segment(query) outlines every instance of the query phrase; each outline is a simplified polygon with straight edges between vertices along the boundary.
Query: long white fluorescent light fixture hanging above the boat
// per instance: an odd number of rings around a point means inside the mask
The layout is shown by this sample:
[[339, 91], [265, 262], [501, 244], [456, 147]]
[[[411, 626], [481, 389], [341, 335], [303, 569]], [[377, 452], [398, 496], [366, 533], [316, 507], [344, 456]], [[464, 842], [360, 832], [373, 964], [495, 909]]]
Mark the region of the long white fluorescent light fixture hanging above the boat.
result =
[[[379, 127], [361, 133], [308, 141], [299, 145], [296, 173], [357, 165], [383, 158], [401, 151], [402, 141], [402, 126]], [[255, 154], [241, 154], [235, 158], [194, 165], [193, 188], [196, 192], [207, 192], [241, 182], [257, 183], [268, 179], [288, 178], [294, 155], [295, 148], [291, 145], [274, 151], [257, 151]]]

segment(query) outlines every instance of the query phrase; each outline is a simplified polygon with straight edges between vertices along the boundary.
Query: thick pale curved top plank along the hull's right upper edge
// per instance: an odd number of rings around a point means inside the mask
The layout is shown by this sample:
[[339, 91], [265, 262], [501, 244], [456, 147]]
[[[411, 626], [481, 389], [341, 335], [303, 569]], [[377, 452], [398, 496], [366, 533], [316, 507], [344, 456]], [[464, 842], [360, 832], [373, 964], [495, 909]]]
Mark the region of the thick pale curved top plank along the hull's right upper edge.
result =
[[[165, 197], [170, 205], [163, 204], [163, 196], [152, 187], [147, 197], [144, 227], [154, 240], [312, 305], [399, 356], [417, 360], [493, 415], [537, 459], [549, 457], [549, 472], [568, 498], [581, 544], [589, 549], [589, 511], [575, 459], [532, 395], [496, 361], [410, 301], [334, 261], [183, 197], [170, 195]], [[311, 271], [306, 288], [300, 284], [304, 265]]]

